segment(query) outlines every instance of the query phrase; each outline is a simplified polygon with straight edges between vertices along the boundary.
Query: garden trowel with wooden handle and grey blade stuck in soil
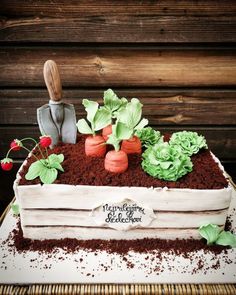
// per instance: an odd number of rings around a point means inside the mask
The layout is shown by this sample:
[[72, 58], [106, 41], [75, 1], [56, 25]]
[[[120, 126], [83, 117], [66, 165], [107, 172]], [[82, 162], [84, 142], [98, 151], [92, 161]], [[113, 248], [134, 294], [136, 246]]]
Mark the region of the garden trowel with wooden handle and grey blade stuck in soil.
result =
[[72, 104], [62, 101], [62, 87], [57, 64], [47, 60], [43, 69], [44, 80], [49, 92], [48, 104], [37, 109], [37, 119], [42, 135], [52, 137], [52, 146], [59, 141], [76, 142], [76, 116]]

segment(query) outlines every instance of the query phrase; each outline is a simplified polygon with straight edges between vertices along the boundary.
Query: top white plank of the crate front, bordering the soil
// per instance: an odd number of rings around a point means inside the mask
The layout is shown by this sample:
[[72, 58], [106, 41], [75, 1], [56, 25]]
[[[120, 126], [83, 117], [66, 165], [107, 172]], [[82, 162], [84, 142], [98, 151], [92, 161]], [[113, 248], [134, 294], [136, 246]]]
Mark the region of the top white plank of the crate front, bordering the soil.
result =
[[93, 209], [106, 202], [131, 199], [153, 210], [203, 211], [229, 207], [232, 188], [190, 190], [143, 187], [72, 186], [63, 184], [15, 187], [21, 208]]

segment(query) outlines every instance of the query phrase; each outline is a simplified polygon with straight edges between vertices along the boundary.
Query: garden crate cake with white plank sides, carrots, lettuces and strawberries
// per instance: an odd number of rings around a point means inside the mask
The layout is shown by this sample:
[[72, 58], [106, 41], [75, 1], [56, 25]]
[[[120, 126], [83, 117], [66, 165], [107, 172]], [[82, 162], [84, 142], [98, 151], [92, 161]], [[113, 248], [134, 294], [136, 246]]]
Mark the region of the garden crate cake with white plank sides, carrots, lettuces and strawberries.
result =
[[[236, 246], [224, 229], [232, 187], [205, 138], [161, 134], [142, 118], [137, 98], [108, 89], [84, 99], [76, 143], [42, 134], [14, 182], [21, 228], [35, 240], [75, 238], [206, 239]], [[15, 139], [10, 153], [34, 139]]]

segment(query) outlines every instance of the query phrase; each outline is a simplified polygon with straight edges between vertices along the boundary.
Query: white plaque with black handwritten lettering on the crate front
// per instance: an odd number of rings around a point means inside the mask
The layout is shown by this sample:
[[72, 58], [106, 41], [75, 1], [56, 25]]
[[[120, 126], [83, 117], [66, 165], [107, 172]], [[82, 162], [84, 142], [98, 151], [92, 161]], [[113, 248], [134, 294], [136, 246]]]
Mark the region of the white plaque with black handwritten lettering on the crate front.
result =
[[105, 202], [93, 209], [92, 216], [96, 224], [116, 230], [147, 227], [156, 218], [151, 208], [131, 199], [124, 199], [121, 202]]

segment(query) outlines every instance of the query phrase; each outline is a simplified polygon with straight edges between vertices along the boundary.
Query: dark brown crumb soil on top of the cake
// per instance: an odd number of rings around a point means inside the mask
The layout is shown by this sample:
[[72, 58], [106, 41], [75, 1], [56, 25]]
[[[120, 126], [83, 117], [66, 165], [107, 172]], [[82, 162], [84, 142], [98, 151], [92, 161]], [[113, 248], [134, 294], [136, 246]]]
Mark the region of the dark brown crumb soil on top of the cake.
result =
[[[79, 136], [76, 144], [59, 144], [50, 153], [63, 153], [65, 160], [62, 166], [65, 172], [60, 173], [55, 183], [92, 186], [136, 186], [136, 187], [168, 187], [190, 189], [222, 189], [228, 183], [218, 164], [212, 158], [209, 150], [201, 150], [192, 156], [193, 171], [178, 181], [164, 181], [146, 174], [141, 168], [141, 155], [129, 155], [129, 168], [121, 174], [113, 174], [104, 169], [103, 158], [86, 157], [84, 152], [85, 136]], [[37, 153], [37, 151], [36, 151]], [[40, 157], [40, 154], [38, 153]], [[37, 178], [32, 181], [25, 179], [31, 157], [23, 167], [20, 175], [20, 185], [40, 183]]]

